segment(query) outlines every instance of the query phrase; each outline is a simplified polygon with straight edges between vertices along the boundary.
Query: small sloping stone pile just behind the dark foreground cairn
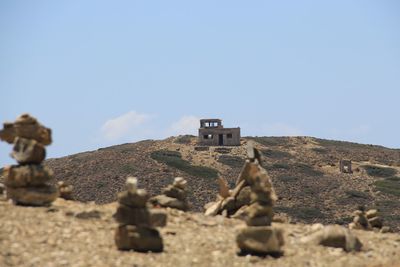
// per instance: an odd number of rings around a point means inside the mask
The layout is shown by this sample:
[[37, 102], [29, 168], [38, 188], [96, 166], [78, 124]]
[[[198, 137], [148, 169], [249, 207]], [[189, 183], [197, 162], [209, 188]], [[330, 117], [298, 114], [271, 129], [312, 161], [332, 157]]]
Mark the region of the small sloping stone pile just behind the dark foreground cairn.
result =
[[186, 185], [187, 181], [185, 179], [182, 177], [176, 177], [173, 184], [170, 184], [163, 189], [162, 195], [152, 197], [150, 202], [156, 207], [168, 207], [187, 211], [189, 205], [186, 200]]

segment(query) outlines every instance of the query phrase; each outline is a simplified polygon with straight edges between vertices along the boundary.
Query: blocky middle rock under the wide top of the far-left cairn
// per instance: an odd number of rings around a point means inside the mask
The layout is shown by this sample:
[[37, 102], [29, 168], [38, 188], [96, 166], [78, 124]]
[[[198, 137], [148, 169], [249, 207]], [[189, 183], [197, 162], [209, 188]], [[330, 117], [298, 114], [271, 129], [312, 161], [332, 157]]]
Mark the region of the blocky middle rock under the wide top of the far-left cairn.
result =
[[40, 164], [46, 156], [44, 146], [33, 139], [16, 137], [14, 148], [11, 152], [19, 164]]

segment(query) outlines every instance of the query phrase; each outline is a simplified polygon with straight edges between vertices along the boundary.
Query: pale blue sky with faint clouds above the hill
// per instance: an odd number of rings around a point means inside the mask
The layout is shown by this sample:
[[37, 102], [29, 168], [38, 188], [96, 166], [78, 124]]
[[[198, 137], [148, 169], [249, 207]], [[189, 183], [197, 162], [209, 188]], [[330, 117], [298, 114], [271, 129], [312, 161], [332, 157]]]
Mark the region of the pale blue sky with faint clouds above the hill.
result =
[[0, 96], [0, 121], [53, 129], [49, 157], [204, 117], [399, 148], [400, 1], [4, 0]]

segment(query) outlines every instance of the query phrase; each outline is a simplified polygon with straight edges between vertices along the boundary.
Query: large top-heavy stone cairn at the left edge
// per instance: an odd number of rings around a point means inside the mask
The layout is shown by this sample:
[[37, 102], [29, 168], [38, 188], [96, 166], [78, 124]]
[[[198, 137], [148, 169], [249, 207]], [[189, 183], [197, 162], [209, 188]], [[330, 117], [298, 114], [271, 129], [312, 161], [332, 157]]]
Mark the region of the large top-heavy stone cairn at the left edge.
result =
[[45, 146], [52, 142], [51, 130], [23, 114], [14, 123], [3, 124], [0, 139], [14, 145], [11, 157], [18, 162], [4, 168], [7, 198], [21, 205], [51, 204], [58, 197], [58, 190], [50, 184], [53, 172], [41, 164], [46, 156]]

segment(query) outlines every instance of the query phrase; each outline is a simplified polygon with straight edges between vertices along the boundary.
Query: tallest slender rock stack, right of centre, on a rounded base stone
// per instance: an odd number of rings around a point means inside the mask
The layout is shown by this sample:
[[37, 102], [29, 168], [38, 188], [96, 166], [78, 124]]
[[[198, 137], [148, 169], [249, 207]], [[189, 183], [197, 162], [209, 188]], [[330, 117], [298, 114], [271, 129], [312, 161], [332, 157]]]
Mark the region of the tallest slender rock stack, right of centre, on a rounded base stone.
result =
[[271, 226], [273, 206], [277, 199], [271, 179], [260, 165], [255, 148], [249, 148], [245, 168], [249, 171], [243, 178], [251, 188], [251, 205], [245, 210], [247, 227], [237, 235], [236, 242], [243, 254], [279, 255], [284, 244], [280, 229]]

